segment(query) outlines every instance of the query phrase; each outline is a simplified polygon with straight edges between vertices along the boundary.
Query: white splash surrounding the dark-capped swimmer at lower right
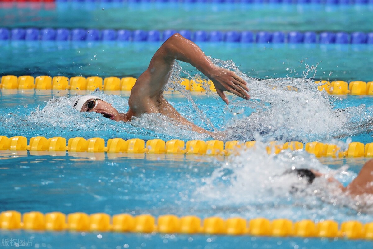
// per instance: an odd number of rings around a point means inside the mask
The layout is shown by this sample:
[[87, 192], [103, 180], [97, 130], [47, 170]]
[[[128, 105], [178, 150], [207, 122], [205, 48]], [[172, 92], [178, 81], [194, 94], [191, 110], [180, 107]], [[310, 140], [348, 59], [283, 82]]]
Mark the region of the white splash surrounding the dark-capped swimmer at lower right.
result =
[[361, 199], [343, 194], [338, 184], [328, 182], [325, 177], [316, 177], [313, 184], [308, 185], [306, 180], [298, 179], [294, 173], [285, 173], [294, 168], [306, 168], [341, 182], [351, 182], [357, 174], [349, 171], [347, 166], [332, 170], [305, 151], [268, 155], [267, 144], [258, 140], [260, 138], [257, 137], [254, 149], [243, 149], [223, 163], [215, 162], [220, 167], [211, 176], [202, 181], [195, 180], [199, 186], [192, 196], [195, 202], [202, 205], [207, 202], [218, 215], [226, 216], [228, 213], [231, 217], [372, 220], [366, 213], [373, 213], [373, 196], [367, 196], [363, 200], [364, 205], [360, 203], [359, 206], [357, 203]]

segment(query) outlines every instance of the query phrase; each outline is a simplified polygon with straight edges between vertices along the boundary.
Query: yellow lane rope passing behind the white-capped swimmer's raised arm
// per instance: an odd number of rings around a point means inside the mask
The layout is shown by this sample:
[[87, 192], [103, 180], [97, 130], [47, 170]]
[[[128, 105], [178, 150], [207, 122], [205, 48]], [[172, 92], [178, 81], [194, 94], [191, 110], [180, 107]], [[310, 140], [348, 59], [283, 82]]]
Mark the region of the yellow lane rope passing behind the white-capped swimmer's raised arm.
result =
[[[136, 78], [134, 77], [107, 77], [101, 78], [98, 76], [92, 77], [65, 77], [65, 76], [51, 76], [41, 75], [36, 78], [30, 75], [4, 75], [1, 77], [0, 89], [35, 89], [35, 90], [71, 90], [71, 91], [94, 91], [100, 89], [101, 91], [131, 91], [135, 85]], [[181, 78], [174, 84], [182, 85], [188, 91], [203, 92], [209, 90], [216, 92], [215, 86], [211, 80], [206, 79], [187, 79]], [[318, 84], [317, 89], [319, 91], [325, 91], [328, 94], [335, 95], [373, 95], [373, 81], [315, 81]], [[277, 86], [272, 86], [272, 89], [276, 89]], [[175, 90], [175, 89], [170, 89]], [[286, 91], [298, 91], [295, 86], [286, 86], [283, 88]]]

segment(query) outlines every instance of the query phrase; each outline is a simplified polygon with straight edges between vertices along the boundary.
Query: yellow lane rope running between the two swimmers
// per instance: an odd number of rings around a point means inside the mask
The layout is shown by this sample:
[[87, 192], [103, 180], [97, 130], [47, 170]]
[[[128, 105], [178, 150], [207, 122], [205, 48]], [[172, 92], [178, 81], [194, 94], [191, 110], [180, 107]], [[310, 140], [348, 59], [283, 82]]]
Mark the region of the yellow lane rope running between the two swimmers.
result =
[[[112, 138], [108, 139], [105, 146], [103, 138], [81, 137], [68, 139], [53, 137], [45, 138], [37, 136], [29, 139], [24, 136], [13, 136], [7, 138], [0, 136], [0, 151], [68, 151], [68, 152], [107, 152], [111, 153], [129, 153], [129, 154], [200, 154], [200, 155], [231, 155], [238, 153], [239, 149], [255, 148], [256, 141], [228, 141], [219, 140], [189, 140], [186, 143], [182, 140], [172, 139], [163, 141], [162, 139], [150, 139], [148, 141], [132, 138]], [[363, 144], [361, 142], [351, 142], [348, 149], [343, 151], [338, 145], [324, 144], [322, 142], [308, 142], [305, 145], [298, 141], [286, 142], [285, 144], [273, 141], [266, 146], [268, 154], [279, 154], [285, 149], [292, 151], [305, 150], [316, 157], [373, 157], [373, 143]], [[1, 152], [0, 152], [1, 154]], [[37, 155], [37, 153], [35, 153]]]

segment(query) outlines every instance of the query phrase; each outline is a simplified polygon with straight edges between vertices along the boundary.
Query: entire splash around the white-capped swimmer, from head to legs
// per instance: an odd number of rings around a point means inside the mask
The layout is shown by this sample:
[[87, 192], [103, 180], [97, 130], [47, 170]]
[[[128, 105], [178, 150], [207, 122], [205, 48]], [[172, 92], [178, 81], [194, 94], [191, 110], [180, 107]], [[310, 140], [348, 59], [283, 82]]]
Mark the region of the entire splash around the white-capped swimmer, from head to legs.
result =
[[[179, 63], [174, 64], [166, 89], [175, 89], [181, 92], [191, 104], [191, 108], [183, 107], [185, 110], [182, 115], [208, 130], [226, 130], [222, 140], [248, 141], [254, 139], [254, 134], [259, 133], [261, 139], [266, 141], [275, 139], [307, 142], [330, 140], [333, 137], [341, 138], [372, 129], [370, 123], [373, 123], [371, 118], [373, 107], [367, 108], [362, 104], [358, 107], [335, 110], [333, 103], [337, 98], [318, 91], [317, 84], [310, 79], [257, 80], [241, 72], [232, 61], [212, 60], [218, 66], [233, 70], [248, 83], [251, 100], [244, 101], [233, 96], [231, 105], [225, 107], [219, 96], [211, 95], [209, 86], [204, 84], [203, 87], [207, 90], [206, 99], [212, 98], [215, 102], [219, 101], [221, 105], [219, 113], [214, 113], [214, 110], [206, 113], [200, 109], [200, 105], [193, 100], [190, 92], [185, 90], [184, 86], [175, 84], [175, 82], [180, 82], [181, 75], [187, 75], [195, 81], [201, 81], [206, 77], [198, 74], [191, 76], [189, 72], [182, 69]], [[312, 66], [311, 69], [316, 71], [316, 67]], [[307, 76], [312, 72], [311, 69], [308, 69], [304, 75]], [[128, 110], [126, 98], [101, 92], [94, 94], [112, 103], [119, 112]], [[38, 107], [33, 111], [27, 119], [38, 125], [50, 126], [51, 129], [60, 127], [64, 131], [75, 132], [93, 130], [97, 134], [103, 133], [107, 138], [122, 134], [122, 137], [135, 135], [145, 139], [154, 137], [185, 140], [210, 138], [207, 135], [192, 132], [188, 127], [180, 129], [179, 126], [175, 126], [172, 120], [159, 114], [144, 114], [140, 118], [135, 117], [128, 123], [115, 123], [95, 113], [77, 113], [70, 108], [73, 98], [75, 97], [53, 98], [43, 109]], [[209, 101], [207, 101], [208, 104]], [[226, 115], [229, 112], [234, 112], [233, 117]], [[192, 113], [193, 116], [189, 113]], [[236, 113], [239, 115], [234, 116]], [[216, 124], [214, 125], [214, 122], [211, 121], [211, 118], [216, 116], [223, 120], [219, 127], [216, 127]]]

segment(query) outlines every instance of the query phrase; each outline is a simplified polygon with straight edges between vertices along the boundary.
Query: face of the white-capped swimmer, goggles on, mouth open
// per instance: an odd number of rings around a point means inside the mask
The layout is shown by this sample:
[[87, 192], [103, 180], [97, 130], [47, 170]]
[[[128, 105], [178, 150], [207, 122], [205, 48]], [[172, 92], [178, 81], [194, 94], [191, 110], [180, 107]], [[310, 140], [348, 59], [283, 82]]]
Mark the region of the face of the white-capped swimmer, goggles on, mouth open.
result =
[[109, 104], [100, 99], [92, 98], [90, 100], [87, 100], [80, 111], [94, 111], [95, 113], [100, 113], [102, 116], [108, 119], [115, 121], [120, 120], [120, 114], [114, 107], [112, 107], [112, 104]]

